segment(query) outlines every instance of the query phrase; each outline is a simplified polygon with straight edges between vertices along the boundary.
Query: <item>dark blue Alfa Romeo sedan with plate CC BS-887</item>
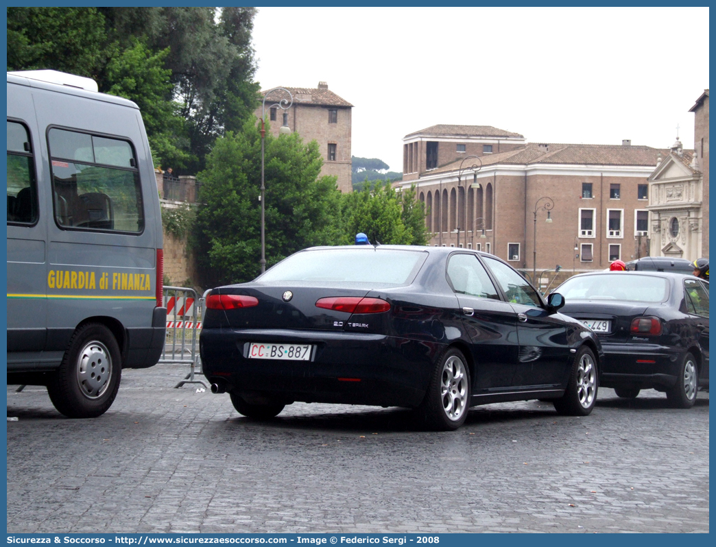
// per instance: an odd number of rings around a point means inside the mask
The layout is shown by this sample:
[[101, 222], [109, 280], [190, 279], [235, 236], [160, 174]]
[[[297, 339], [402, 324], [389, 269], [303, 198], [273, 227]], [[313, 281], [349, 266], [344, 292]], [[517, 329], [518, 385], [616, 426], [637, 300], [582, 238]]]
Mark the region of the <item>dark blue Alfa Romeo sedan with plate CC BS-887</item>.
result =
[[485, 253], [310, 248], [208, 294], [203, 373], [254, 418], [294, 401], [412, 407], [439, 430], [491, 402], [589, 415], [601, 346], [563, 303]]

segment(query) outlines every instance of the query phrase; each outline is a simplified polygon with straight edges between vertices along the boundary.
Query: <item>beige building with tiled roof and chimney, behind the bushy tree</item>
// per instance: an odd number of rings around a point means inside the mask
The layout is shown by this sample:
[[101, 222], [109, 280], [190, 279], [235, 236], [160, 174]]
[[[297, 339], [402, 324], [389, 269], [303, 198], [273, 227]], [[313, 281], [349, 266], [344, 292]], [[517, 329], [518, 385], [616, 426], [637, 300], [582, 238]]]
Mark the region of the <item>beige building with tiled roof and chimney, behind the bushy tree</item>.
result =
[[[304, 142], [316, 140], [323, 158], [321, 175], [336, 175], [338, 188], [342, 192], [352, 192], [351, 183], [351, 112], [352, 107], [328, 89], [326, 82], [319, 82], [316, 89], [305, 87], [284, 87], [294, 97], [293, 105], [286, 113], [286, 122], [292, 132], [301, 135]], [[266, 91], [262, 91], [262, 94]], [[284, 110], [274, 105], [288, 97], [284, 92], [274, 91], [266, 99], [266, 123], [271, 133], [279, 135], [279, 127], [284, 122]], [[263, 105], [256, 110], [261, 117]]]

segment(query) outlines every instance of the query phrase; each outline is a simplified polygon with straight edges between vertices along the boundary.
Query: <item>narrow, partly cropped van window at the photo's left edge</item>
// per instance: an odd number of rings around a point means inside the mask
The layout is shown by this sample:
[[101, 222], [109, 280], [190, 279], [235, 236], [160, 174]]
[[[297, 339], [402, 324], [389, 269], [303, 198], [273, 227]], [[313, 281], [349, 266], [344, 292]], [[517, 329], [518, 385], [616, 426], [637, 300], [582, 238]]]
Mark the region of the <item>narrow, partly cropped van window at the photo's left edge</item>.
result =
[[7, 122], [7, 221], [37, 222], [37, 181], [27, 128]]

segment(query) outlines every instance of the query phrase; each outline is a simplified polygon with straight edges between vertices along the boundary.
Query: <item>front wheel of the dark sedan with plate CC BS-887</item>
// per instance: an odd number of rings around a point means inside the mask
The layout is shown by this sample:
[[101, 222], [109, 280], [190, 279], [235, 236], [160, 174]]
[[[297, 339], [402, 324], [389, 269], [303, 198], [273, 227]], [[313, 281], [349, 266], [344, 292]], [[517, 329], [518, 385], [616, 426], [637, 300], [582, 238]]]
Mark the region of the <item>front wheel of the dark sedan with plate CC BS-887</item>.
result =
[[589, 347], [582, 346], [574, 356], [574, 364], [563, 397], [553, 401], [558, 414], [586, 416], [594, 408], [599, 389], [596, 359]]

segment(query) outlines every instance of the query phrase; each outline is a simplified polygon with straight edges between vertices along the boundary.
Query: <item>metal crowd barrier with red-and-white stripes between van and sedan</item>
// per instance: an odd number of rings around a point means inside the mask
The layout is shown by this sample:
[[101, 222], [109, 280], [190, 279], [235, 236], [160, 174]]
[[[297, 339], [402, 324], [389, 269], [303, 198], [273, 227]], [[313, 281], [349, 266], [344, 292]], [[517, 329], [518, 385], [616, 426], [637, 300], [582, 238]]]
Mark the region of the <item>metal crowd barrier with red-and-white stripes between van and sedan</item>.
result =
[[164, 306], [167, 309], [167, 335], [159, 363], [186, 363], [189, 374], [174, 387], [184, 384], [207, 386], [195, 374], [201, 373], [199, 333], [203, 316], [204, 299], [198, 298], [188, 287], [164, 287]]

